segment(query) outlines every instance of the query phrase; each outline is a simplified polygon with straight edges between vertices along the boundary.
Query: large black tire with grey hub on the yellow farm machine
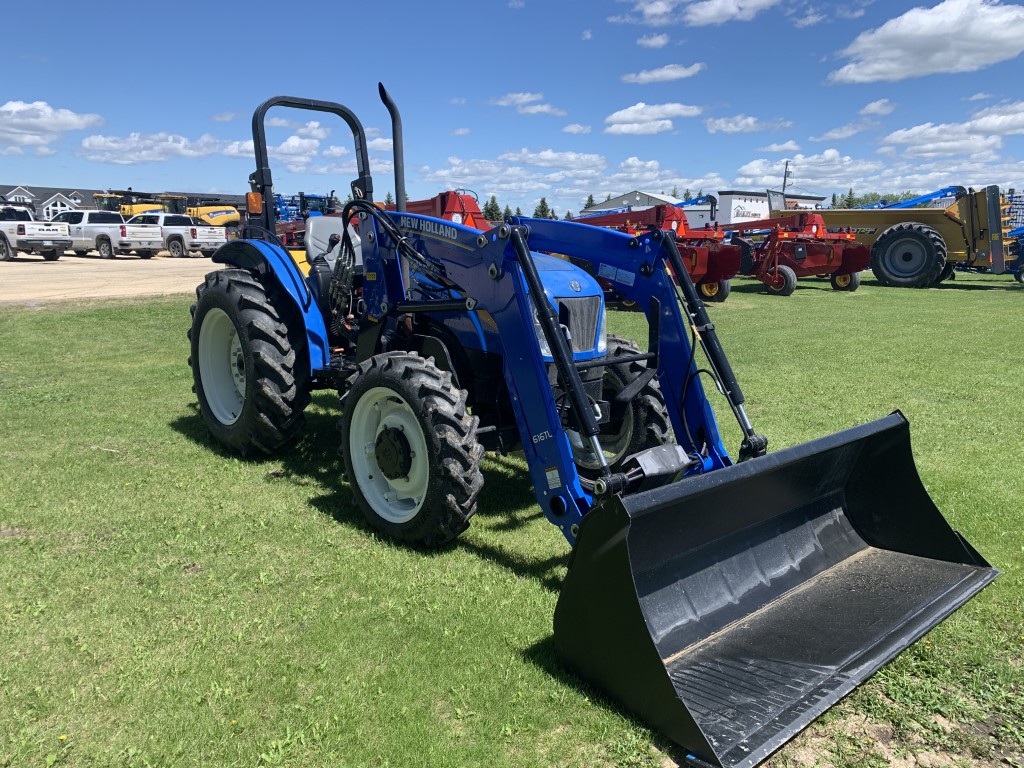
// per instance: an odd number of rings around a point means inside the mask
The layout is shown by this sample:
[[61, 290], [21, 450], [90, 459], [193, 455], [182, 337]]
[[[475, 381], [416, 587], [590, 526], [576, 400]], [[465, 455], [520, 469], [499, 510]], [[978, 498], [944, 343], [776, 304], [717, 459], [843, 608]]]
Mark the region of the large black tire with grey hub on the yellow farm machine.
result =
[[945, 263], [942, 236], [924, 224], [895, 224], [871, 247], [871, 271], [885, 286], [928, 288], [939, 279]]

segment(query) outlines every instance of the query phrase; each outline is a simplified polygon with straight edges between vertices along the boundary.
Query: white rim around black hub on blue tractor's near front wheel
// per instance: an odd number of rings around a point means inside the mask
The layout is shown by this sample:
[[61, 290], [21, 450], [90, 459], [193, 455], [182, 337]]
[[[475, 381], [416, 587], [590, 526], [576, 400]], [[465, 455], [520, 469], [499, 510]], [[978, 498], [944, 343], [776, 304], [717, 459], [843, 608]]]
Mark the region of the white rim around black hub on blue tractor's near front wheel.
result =
[[[355, 482], [374, 512], [391, 523], [412, 520], [423, 507], [430, 482], [427, 441], [416, 414], [393, 389], [374, 387], [353, 407], [348, 451]], [[404, 477], [388, 478], [377, 463], [377, 438], [385, 429], [402, 433], [412, 455]]]

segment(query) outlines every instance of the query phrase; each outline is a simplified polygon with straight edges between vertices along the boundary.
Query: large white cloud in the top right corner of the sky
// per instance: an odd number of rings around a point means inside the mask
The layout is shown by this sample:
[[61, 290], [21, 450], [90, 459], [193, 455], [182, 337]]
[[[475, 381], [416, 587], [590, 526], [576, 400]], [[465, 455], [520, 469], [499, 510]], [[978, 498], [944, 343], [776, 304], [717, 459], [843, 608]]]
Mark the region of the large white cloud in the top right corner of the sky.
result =
[[862, 32], [842, 51], [850, 63], [829, 73], [828, 81], [876, 83], [977, 72], [1021, 51], [1024, 6], [999, 0], [943, 0]]

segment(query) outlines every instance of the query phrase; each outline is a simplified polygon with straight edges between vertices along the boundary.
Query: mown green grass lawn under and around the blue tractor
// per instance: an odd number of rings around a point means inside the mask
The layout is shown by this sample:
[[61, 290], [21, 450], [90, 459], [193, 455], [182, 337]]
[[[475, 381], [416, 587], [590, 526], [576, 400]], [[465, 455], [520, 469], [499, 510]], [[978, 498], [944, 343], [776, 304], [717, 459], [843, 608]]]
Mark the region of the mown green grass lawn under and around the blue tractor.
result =
[[[520, 461], [486, 460], [451, 550], [379, 540], [340, 479], [329, 394], [278, 459], [210, 442], [188, 304], [0, 308], [0, 766], [681, 760], [556, 660], [567, 545]], [[773, 765], [1024, 765], [1022, 309], [987, 275], [787, 299], [743, 282], [711, 306], [772, 449], [899, 408], [936, 504], [1004, 571]]]

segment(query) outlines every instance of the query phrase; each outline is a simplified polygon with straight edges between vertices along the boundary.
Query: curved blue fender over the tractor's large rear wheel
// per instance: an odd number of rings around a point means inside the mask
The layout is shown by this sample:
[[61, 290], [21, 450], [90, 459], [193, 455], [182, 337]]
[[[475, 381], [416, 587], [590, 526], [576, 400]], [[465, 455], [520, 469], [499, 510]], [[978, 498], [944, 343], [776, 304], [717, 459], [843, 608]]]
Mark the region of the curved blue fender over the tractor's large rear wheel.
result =
[[328, 345], [324, 316], [305, 278], [284, 248], [261, 240], [232, 240], [218, 248], [211, 260], [240, 269], [266, 275], [273, 280], [295, 308], [302, 322], [309, 350], [310, 373], [328, 367], [331, 350]]

